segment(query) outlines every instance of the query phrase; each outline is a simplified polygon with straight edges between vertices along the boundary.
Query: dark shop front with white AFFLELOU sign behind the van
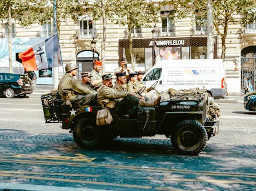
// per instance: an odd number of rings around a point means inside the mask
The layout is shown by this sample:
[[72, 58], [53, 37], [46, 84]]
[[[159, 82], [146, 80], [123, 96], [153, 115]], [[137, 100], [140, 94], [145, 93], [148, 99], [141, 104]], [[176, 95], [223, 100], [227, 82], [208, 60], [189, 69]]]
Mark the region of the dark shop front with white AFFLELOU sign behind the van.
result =
[[[217, 37], [215, 37], [217, 42]], [[158, 38], [157, 46], [152, 39], [133, 39], [133, 63], [135, 70], [147, 71], [158, 61], [167, 59], [206, 59], [207, 37]], [[128, 39], [119, 40], [119, 55], [131, 63]], [[213, 58], [217, 56], [217, 44], [214, 44]]]

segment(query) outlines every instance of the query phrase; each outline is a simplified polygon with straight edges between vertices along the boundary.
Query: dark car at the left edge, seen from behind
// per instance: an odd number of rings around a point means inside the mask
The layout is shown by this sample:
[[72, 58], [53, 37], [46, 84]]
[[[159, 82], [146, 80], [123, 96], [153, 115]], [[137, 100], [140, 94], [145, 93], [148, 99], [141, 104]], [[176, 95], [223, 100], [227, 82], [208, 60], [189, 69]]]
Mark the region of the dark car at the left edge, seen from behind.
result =
[[32, 81], [26, 74], [0, 73], [0, 96], [25, 97], [33, 93]]

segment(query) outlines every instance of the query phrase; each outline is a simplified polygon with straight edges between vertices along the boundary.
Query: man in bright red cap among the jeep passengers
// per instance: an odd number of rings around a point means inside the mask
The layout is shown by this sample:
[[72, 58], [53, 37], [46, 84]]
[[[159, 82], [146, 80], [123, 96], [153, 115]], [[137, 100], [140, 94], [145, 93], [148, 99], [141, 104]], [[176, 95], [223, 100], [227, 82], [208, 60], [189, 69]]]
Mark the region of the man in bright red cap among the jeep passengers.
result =
[[102, 85], [101, 68], [102, 62], [96, 60], [93, 65], [93, 70], [90, 72], [92, 75], [90, 86], [92, 86], [93, 89], [98, 89]]

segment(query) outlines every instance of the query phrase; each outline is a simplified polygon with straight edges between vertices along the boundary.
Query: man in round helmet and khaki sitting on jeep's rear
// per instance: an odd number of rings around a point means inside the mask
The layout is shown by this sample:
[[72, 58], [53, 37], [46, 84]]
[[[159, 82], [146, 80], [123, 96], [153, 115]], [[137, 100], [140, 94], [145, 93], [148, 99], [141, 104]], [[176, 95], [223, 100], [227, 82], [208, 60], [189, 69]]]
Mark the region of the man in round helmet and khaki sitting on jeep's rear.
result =
[[96, 103], [97, 93], [92, 93], [73, 77], [77, 74], [76, 64], [66, 64], [65, 70], [66, 74], [62, 76], [58, 86], [61, 99], [79, 105], [98, 105]]

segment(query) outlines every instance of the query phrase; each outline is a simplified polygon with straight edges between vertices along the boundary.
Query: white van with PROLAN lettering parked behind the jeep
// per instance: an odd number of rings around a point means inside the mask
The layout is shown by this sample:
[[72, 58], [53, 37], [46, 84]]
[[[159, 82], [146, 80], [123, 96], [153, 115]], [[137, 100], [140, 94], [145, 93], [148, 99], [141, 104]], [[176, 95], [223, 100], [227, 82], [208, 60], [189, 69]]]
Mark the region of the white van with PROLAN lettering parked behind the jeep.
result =
[[143, 76], [146, 87], [158, 81], [156, 90], [207, 88], [214, 98], [225, 96], [225, 70], [222, 59], [172, 59], [158, 61]]

